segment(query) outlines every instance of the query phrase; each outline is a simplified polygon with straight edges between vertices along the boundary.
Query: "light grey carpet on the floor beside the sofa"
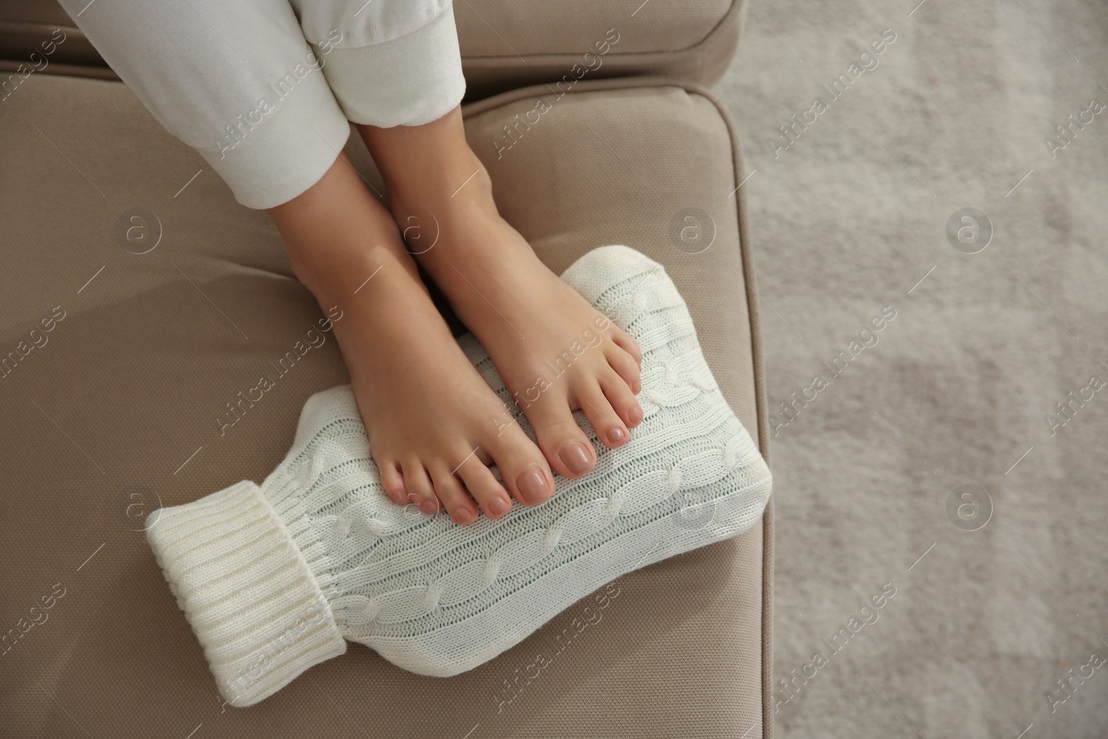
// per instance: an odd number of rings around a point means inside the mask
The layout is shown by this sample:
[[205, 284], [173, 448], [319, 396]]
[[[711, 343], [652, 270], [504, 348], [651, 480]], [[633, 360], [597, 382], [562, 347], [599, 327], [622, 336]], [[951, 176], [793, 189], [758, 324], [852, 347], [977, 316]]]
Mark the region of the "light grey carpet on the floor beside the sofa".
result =
[[[769, 401], [789, 421], [771, 441], [774, 679], [814, 675], [787, 702], [779, 687], [777, 736], [1105, 737], [1108, 109], [1064, 148], [1056, 135], [1054, 158], [1044, 140], [1108, 105], [1108, 6], [909, 14], [917, 1], [753, 3], [715, 88], [756, 171]], [[895, 41], [852, 80], [884, 29]], [[820, 85], [839, 74], [834, 100]], [[814, 97], [827, 110], [774, 151]], [[966, 207], [992, 224], [976, 254], [947, 239]], [[873, 346], [851, 347], [885, 306]], [[814, 400], [781, 415], [815, 377]], [[1070, 392], [1092, 399], [1053, 435]], [[962, 485], [992, 501], [983, 528], [947, 515]], [[862, 613], [886, 583], [895, 595]]]

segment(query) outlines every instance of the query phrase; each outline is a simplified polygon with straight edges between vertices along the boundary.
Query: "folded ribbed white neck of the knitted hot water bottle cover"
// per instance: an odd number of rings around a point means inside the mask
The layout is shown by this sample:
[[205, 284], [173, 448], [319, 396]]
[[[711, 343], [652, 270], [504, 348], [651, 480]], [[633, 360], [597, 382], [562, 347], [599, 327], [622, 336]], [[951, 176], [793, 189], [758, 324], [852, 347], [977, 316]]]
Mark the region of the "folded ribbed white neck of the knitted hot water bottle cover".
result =
[[249, 481], [146, 520], [157, 564], [232, 706], [256, 704], [346, 651], [287, 523]]

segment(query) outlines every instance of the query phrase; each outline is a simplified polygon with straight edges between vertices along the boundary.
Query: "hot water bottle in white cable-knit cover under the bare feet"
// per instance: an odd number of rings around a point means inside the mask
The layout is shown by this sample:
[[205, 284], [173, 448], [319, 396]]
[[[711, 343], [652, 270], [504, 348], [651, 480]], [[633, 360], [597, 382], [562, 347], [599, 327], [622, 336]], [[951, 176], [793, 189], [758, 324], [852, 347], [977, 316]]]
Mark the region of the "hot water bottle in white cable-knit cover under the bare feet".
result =
[[[645, 418], [609, 450], [577, 412], [597, 465], [557, 478], [542, 505], [460, 526], [392, 503], [341, 386], [308, 400], [293, 449], [260, 486], [244, 481], [152, 514], [148, 541], [232, 705], [342, 654], [343, 639], [414, 673], [463, 673], [619, 575], [761, 516], [769, 470], [661, 266], [606, 246], [562, 277], [638, 340]], [[511, 402], [480, 345], [461, 343]]]

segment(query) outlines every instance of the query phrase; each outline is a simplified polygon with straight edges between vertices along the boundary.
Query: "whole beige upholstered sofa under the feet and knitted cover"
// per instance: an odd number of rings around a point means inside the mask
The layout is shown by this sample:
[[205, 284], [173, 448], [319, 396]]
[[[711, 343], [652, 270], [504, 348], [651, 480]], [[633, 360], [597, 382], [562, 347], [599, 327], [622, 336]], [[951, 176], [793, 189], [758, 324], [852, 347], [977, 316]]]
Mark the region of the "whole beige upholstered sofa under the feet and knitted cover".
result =
[[[468, 103], [466, 131], [554, 271], [604, 244], [666, 266], [767, 454], [746, 173], [697, 84], [726, 66], [741, 3], [608, 4], [459, 0], [471, 96], [537, 82]], [[59, 24], [45, 69], [12, 72]], [[578, 79], [609, 29], [618, 41]], [[345, 366], [335, 342], [312, 349], [220, 435], [226, 404], [319, 316], [275, 227], [53, 3], [0, 3], [0, 79], [20, 76], [0, 102], [0, 736], [771, 736], [772, 504], [471, 673], [412, 675], [351, 645], [257, 706], [223, 706], [142, 517], [263, 479]], [[347, 151], [381, 188], [357, 136]]]

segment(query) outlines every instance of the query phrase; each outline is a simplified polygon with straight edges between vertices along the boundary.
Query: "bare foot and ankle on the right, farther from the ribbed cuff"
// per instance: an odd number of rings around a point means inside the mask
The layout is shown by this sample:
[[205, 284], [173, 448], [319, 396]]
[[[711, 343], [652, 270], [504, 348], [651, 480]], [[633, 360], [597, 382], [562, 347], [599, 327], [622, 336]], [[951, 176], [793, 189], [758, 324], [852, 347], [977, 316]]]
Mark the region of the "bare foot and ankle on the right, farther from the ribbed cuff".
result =
[[606, 447], [627, 443], [643, 420], [638, 343], [501, 218], [460, 110], [422, 126], [358, 129], [412, 252], [489, 351], [551, 466], [579, 478], [596, 464], [575, 409]]

